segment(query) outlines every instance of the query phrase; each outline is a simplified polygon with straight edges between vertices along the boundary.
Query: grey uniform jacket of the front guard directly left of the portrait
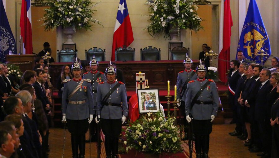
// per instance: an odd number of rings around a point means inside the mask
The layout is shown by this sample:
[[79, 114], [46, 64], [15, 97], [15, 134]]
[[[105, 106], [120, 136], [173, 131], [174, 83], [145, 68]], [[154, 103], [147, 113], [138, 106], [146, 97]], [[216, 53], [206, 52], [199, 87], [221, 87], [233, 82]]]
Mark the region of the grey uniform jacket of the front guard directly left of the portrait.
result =
[[[128, 104], [127, 104], [127, 91], [124, 83], [122, 83], [113, 93], [109, 96], [109, 98], [105, 101], [106, 103], [115, 103], [121, 104], [120, 106], [110, 106], [104, 105], [102, 110], [102, 100], [106, 96], [106, 94], [111, 90], [118, 81], [114, 80], [111, 82], [101, 82], [98, 85], [97, 90], [97, 114], [101, 116], [103, 119], [121, 119], [122, 115], [128, 116]], [[123, 111], [123, 112], [122, 112]]]

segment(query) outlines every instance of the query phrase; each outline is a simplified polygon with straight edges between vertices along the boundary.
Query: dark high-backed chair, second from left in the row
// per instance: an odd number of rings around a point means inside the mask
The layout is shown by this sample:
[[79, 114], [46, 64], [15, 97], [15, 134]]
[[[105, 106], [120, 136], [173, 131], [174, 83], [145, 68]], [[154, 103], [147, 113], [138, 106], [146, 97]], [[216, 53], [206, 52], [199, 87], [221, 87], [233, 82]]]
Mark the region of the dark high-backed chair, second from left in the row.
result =
[[85, 59], [91, 60], [95, 55], [95, 59], [97, 61], [106, 61], [106, 49], [102, 50], [101, 48], [93, 47], [90, 48], [88, 51], [85, 50]]

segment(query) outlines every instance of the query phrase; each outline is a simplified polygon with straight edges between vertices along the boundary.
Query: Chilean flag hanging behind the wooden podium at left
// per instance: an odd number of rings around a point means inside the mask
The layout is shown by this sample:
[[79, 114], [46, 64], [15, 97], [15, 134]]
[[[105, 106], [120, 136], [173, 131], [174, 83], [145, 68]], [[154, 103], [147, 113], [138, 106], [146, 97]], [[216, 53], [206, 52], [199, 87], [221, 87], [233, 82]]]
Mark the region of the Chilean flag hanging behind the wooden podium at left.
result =
[[20, 36], [23, 43], [22, 54], [32, 54], [31, 0], [22, 0], [20, 15]]

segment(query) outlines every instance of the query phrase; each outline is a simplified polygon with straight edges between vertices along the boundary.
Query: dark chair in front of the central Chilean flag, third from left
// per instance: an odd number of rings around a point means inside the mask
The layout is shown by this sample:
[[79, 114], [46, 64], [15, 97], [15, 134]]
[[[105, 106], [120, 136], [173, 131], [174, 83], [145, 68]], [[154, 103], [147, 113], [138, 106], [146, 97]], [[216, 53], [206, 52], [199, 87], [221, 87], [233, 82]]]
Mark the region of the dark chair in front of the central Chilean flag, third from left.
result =
[[115, 61], [134, 61], [135, 48], [123, 46], [115, 50]]

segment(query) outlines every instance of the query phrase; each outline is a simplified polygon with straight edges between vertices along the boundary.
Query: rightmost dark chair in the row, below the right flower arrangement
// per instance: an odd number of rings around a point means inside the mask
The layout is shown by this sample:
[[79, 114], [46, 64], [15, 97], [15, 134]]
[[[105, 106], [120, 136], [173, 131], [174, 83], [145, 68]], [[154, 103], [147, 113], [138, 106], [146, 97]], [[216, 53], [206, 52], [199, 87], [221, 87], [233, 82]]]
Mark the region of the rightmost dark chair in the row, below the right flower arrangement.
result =
[[183, 60], [186, 57], [186, 53], [189, 56], [190, 48], [185, 48], [181, 46], [174, 47], [169, 50], [169, 60]]

